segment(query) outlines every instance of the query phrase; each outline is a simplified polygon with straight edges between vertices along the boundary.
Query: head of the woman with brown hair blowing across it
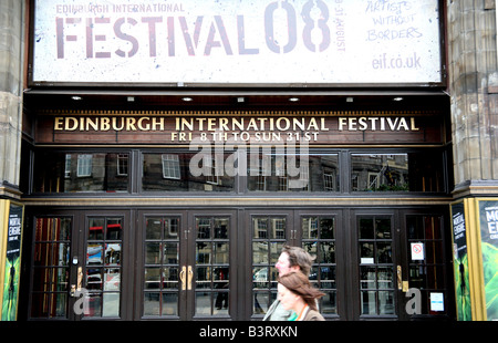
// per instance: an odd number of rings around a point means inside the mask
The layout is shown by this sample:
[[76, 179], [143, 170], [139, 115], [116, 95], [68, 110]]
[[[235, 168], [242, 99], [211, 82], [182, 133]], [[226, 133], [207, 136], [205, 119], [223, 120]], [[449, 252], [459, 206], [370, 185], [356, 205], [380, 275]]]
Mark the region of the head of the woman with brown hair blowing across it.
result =
[[293, 309], [300, 299], [311, 309], [317, 310], [317, 299], [324, 295], [318, 289], [313, 288], [308, 277], [299, 271], [291, 271], [279, 277], [279, 300], [283, 308]]

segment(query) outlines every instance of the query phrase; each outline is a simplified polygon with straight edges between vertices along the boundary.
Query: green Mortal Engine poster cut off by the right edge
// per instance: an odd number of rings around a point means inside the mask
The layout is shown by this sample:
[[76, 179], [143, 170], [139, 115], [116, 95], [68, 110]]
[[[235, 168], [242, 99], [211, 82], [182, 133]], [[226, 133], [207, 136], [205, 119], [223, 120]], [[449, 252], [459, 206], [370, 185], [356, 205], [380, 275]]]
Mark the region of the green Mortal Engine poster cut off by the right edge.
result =
[[498, 201], [479, 201], [480, 249], [488, 321], [498, 320]]

